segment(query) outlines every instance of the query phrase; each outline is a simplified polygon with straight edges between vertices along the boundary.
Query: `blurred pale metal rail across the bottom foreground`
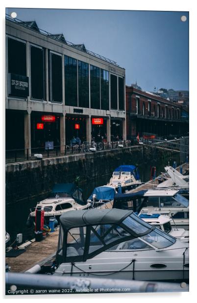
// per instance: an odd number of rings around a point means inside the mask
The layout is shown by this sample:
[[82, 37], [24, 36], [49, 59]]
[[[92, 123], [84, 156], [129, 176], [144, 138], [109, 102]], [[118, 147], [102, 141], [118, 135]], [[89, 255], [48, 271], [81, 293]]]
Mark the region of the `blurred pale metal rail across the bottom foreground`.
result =
[[[13, 287], [14, 286], [14, 287]], [[54, 293], [139, 293], [139, 292], [185, 292], [189, 285], [155, 281], [103, 279], [95, 277], [54, 276], [31, 273], [6, 273], [6, 295], [32, 295]], [[23, 292], [22, 292], [23, 291]]]

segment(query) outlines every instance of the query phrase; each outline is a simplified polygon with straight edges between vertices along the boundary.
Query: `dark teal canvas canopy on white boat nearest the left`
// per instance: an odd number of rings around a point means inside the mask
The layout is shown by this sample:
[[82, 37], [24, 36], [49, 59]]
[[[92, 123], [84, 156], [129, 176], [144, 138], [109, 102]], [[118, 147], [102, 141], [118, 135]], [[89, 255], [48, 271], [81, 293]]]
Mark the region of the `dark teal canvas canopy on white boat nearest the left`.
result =
[[82, 189], [76, 186], [74, 183], [58, 183], [52, 188], [51, 194], [68, 194], [71, 196], [78, 204], [85, 205], [83, 201]]

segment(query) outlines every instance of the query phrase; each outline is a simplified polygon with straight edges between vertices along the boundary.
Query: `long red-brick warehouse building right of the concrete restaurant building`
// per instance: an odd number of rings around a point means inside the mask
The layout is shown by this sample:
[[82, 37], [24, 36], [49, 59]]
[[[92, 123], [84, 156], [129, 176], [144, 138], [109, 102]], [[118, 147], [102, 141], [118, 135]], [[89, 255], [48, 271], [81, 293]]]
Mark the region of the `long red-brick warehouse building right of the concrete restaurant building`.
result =
[[126, 86], [126, 134], [127, 138], [139, 133], [180, 136], [189, 132], [188, 113], [180, 104], [158, 95]]

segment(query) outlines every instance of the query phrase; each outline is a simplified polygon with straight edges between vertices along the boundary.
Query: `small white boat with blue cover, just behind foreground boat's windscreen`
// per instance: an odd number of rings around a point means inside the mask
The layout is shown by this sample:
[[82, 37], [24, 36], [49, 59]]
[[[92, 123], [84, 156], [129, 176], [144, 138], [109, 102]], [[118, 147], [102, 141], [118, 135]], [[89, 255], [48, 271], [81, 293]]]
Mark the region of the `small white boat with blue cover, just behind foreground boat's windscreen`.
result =
[[172, 218], [170, 218], [169, 216], [159, 213], [141, 213], [139, 214], [139, 217], [148, 224], [154, 225], [157, 228], [160, 228], [161, 230], [166, 232], [167, 234], [175, 237], [176, 239], [179, 239], [181, 242], [189, 242], [189, 231], [185, 230], [184, 228], [173, 228], [171, 225]]

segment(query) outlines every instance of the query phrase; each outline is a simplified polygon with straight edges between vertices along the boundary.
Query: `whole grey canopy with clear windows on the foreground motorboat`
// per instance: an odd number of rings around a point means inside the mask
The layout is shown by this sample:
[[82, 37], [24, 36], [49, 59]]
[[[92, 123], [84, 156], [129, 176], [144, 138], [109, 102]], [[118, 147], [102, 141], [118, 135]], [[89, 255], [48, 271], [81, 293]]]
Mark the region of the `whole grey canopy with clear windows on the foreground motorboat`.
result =
[[60, 216], [56, 262], [86, 261], [127, 240], [149, 234], [154, 226], [133, 211], [91, 209]]

